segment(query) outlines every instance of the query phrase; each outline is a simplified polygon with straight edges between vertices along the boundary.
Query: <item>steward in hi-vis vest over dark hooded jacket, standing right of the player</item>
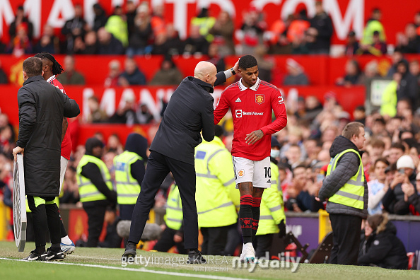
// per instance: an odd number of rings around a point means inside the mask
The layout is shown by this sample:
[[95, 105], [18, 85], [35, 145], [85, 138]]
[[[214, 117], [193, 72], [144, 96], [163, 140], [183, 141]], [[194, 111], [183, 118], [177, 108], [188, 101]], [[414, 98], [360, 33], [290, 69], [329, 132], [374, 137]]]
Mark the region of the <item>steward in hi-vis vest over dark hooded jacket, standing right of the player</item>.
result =
[[361, 222], [368, 216], [368, 184], [359, 151], [365, 140], [363, 124], [350, 122], [329, 149], [332, 159], [318, 197], [321, 202], [328, 199], [332, 264], [357, 265]]

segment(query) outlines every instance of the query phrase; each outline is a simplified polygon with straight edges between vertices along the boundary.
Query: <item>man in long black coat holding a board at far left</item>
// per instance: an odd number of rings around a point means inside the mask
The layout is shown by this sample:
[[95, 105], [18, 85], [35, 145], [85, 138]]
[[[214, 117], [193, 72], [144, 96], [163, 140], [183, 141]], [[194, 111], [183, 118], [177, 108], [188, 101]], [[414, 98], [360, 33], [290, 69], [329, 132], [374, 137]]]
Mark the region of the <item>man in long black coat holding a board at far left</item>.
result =
[[[33, 214], [35, 246], [28, 260], [63, 259], [60, 249], [59, 195], [63, 117], [76, 117], [79, 107], [55, 86], [44, 81], [42, 62], [30, 57], [23, 62], [23, 87], [18, 91], [19, 138], [13, 155], [23, 153], [25, 193]], [[45, 231], [51, 247], [45, 252]]]

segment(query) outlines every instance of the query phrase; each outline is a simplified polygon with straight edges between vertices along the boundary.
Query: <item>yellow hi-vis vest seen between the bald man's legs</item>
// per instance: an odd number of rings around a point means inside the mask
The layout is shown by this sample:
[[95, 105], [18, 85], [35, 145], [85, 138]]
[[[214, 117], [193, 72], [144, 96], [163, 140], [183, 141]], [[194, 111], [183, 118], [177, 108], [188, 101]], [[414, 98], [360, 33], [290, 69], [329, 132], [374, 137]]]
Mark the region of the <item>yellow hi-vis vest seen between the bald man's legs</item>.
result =
[[183, 215], [180, 189], [175, 184], [170, 186], [168, 200], [166, 201], [166, 214], [163, 219], [165, 220], [166, 226], [175, 231], [179, 230], [182, 226]]

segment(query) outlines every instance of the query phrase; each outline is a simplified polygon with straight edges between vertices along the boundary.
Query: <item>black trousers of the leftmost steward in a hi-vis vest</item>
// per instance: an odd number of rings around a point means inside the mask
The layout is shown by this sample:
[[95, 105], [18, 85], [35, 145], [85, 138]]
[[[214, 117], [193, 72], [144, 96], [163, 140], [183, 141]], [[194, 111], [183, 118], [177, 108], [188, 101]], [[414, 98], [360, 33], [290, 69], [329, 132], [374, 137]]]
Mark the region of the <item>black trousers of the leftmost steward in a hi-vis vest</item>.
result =
[[98, 247], [105, 211], [109, 204], [106, 199], [95, 202], [83, 202], [83, 209], [88, 214], [88, 242], [86, 247]]

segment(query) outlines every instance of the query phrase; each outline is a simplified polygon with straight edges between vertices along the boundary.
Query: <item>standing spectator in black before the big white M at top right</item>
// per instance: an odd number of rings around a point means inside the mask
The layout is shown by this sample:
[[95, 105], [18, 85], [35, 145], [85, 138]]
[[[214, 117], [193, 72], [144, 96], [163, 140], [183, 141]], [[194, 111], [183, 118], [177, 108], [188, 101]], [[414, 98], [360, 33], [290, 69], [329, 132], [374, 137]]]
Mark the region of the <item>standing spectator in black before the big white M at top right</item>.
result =
[[315, 2], [315, 16], [310, 20], [310, 27], [317, 30], [317, 36], [310, 52], [313, 54], [329, 54], [332, 37], [332, 20], [322, 9], [322, 2]]

